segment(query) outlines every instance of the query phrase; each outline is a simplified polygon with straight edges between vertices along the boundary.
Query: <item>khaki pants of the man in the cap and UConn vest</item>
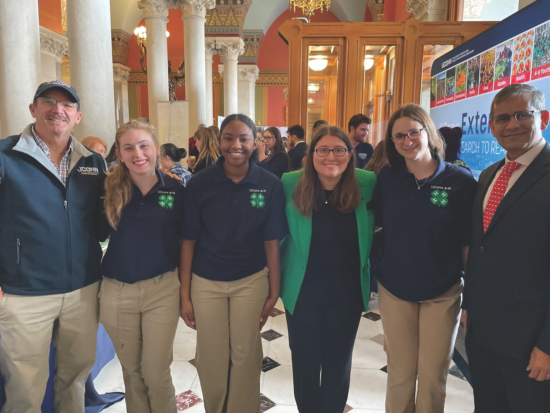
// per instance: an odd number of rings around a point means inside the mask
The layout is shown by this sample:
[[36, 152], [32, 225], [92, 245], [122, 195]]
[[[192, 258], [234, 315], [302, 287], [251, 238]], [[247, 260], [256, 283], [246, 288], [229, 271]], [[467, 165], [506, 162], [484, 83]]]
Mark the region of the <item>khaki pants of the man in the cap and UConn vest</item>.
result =
[[41, 412], [52, 339], [55, 411], [84, 413], [84, 384], [96, 362], [99, 287], [98, 281], [67, 294], [0, 298], [2, 413]]

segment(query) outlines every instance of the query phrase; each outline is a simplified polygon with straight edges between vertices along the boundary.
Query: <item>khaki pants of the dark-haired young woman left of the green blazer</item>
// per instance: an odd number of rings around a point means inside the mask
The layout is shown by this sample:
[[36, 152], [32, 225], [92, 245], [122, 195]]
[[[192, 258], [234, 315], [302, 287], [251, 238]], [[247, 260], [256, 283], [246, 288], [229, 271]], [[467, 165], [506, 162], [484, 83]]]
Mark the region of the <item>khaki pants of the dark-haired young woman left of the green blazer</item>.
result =
[[196, 367], [206, 413], [260, 411], [260, 315], [269, 294], [267, 267], [237, 281], [193, 274]]

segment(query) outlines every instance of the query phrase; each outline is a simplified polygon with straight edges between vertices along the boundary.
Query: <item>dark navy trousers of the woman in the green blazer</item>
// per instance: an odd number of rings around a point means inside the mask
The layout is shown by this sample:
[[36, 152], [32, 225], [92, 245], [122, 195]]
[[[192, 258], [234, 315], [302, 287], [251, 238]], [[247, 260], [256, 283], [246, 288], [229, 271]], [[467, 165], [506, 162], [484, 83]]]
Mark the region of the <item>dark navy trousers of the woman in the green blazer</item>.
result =
[[338, 294], [328, 297], [331, 286], [324, 287], [320, 291], [304, 280], [294, 314], [288, 310], [286, 314], [294, 398], [300, 413], [342, 413], [348, 400], [361, 296], [354, 286], [342, 297], [339, 285], [332, 289]]

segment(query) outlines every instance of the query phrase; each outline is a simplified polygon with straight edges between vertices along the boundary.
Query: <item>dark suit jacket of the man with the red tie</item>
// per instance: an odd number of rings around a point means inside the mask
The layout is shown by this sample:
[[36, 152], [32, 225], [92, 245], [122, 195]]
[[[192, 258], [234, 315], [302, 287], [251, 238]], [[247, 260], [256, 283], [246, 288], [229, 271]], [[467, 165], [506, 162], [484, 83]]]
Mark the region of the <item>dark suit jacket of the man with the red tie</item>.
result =
[[483, 198], [504, 160], [481, 173], [463, 307], [469, 332], [487, 349], [529, 360], [550, 354], [550, 144], [504, 195], [483, 233]]

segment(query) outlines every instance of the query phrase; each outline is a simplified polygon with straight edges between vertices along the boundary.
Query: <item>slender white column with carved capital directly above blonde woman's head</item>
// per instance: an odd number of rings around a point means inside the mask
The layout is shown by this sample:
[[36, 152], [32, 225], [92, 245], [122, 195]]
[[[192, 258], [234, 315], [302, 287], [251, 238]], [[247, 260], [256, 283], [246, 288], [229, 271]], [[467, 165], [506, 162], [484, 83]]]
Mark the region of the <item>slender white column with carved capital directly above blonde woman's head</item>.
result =
[[139, 0], [147, 29], [147, 95], [149, 96], [149, 122], [158, 131], [158, 102], [169, 100], [168, 95], [168, 43], [166, 23], [168, 10], [174, 1]]

